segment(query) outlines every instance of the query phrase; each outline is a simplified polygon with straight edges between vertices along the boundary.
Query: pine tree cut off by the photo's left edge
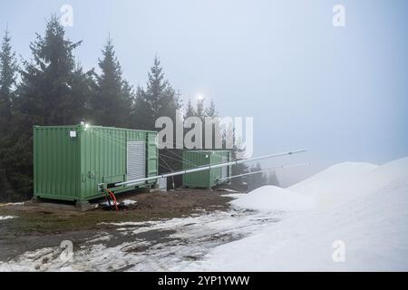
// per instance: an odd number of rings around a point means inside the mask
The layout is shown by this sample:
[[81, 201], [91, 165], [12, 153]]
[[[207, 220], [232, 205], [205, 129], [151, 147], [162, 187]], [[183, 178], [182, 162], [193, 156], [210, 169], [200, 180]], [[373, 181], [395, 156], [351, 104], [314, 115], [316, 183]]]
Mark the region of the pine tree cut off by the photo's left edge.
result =
[[11, 36], [5, 30], [0, 50], [0, 201], [12, 200], [13, 190], [8, 182], [9, 170], [4, 165], [6, 149], [10, 146], [9, 133], [12, 124], [12, 106], [15, 101], [15, 78], [17, 73], [15, 53]]

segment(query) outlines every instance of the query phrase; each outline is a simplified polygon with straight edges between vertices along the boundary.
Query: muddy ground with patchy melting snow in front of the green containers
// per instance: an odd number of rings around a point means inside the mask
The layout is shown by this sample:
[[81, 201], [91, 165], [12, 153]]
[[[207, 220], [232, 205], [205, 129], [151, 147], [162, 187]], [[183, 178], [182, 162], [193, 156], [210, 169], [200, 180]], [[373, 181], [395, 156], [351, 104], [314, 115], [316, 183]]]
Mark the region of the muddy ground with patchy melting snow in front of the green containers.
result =
[[[236, 195], [174, 191], [121, 197], [137, 200], [128, 210], [44, 211], [0, 208], [0, 271], [194, 271], [210, 250], [279, 221], [235, 210]], [[61, 242], [73, 244], [62, 259]]]

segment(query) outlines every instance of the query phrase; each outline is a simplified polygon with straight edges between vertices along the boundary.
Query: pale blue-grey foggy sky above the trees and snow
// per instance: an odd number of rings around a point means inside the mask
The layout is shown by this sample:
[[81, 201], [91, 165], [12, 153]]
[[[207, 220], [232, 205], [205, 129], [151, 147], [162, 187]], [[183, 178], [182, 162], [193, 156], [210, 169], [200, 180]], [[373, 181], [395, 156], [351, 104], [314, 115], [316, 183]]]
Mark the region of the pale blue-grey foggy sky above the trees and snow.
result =
[[[408, 155], [407, 1], [15, 0], [0, 3], [0, 28], [29, 59], [35, 32], [64, 4], [84, 69], [97, 66], [108, 34], [135, 86], [158, 53], [184, 100], [202, 94], [221, 115], [255, 118], [255, 155], [307, 148], [293, 161], [317, 168]], [[342, 28], [332, 24], [337, 4]]]

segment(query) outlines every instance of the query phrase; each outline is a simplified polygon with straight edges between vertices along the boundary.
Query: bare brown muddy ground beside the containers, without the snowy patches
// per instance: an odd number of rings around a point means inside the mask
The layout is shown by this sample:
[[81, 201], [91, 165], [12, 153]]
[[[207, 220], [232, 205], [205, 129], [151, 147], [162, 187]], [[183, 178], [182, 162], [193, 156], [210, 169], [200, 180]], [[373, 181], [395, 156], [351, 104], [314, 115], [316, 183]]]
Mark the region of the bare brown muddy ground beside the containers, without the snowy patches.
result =
[[136, 200], [137, 204], [119, 212], [95, 209], [83, 213], [23, 205], [0, 207], [0, 217], [15, 217], [0, 221], [0, 261], [38, 248], [59, 247], [63, 240], [73, 241], [74, 247], [79, 248], [101, 233], [114, 237], [110, 245], [113, 247], [115, 243], [124, 242], [125, 238], [116, 235], [112, 223], [151, 222], [185, 218], [199, 210], [228, 210], [231, 198], [224, 196], [226, 193], [186, 189], [131, 193], [121, 195], [120, 199]]

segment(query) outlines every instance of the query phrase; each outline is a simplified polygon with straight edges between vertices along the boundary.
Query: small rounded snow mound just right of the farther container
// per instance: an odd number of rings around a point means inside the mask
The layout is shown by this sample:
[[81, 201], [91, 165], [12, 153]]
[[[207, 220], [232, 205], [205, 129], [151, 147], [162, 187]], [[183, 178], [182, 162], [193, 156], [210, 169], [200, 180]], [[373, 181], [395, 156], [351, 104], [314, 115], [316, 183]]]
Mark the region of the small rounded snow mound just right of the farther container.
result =
[[231, 201], [234, 208], [247, 208], [261, 212], [303, 210], [313, 207], [313, 199], [287, 189], [266, 186]]

